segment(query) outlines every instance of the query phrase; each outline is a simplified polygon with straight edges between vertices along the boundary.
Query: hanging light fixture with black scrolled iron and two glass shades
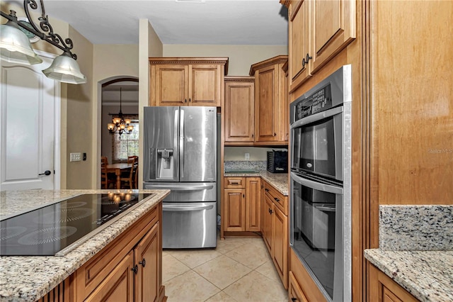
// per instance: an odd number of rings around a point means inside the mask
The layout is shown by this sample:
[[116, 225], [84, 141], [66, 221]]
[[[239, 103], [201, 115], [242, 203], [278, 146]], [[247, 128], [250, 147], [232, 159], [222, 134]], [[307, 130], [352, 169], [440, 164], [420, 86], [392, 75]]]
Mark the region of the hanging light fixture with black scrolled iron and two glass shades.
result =
[[[55, 79], [59, 82], [69, 84], [86, 83], [86, 77], [81, 73], [80, 67], [77, 64], [77, 55], [71, 52], [74, 44], [70, 38], [63, 39], [59, 34], [54, 33], [52, 26], [45, 14], [44, 3], [40, 0], [41, 16], [40, 29], [33, 22], [28, 6], [31, 9], [38, 9], [38, 4], [35, 0], [24, 0], [23, 9], [28, 18], [31, 27], [23, 25], [18, 21], [16, 11], [10, 10], [10, 13], [0, 11], [0, 15], [8, 19], [8, 22], [1, 25], [0, 28], [0, 57], [7, 62], [18, 64], [32, 65], [42, 62], [41, 58], [36, 55], [31, 47], [30, 40], [20, 28], [28, 30], [30, 33], [37, 35], [41, 40], [58, 47], [63, 50], [63, 54], [55, 58], [49, 68], [42, 70], [46, 77]], [[42, 30], [42, 31], [41, 31]]]

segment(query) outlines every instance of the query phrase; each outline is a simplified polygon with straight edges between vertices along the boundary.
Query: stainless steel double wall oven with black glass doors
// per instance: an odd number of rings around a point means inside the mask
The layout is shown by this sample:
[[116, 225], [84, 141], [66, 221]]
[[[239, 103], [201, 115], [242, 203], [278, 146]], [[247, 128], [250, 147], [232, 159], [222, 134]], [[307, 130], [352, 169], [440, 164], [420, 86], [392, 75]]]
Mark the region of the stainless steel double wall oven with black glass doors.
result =
[[328, 301], [351, 300], [351, 69], [289, 107], [290, 245]]

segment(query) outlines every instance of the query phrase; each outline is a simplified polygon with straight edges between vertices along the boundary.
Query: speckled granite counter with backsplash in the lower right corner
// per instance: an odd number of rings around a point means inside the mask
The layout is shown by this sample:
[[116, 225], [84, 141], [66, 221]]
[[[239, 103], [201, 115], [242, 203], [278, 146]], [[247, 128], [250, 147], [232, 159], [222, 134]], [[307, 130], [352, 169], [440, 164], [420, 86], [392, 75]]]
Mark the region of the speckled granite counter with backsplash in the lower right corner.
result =
[[365, 258], [420, 301], [453, 301], [453, 206], [379, 206]]

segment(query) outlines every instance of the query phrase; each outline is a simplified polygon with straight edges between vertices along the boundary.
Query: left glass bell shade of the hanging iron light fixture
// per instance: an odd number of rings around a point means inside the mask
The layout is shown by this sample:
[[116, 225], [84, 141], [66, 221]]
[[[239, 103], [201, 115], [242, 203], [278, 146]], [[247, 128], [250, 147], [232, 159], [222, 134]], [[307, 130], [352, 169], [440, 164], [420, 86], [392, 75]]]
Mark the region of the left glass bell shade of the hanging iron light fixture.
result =
[[0, 57], [10, 63], [42, 63], [42, 59], [33, 51], [27, 35], [11, 21], [0, 26]]

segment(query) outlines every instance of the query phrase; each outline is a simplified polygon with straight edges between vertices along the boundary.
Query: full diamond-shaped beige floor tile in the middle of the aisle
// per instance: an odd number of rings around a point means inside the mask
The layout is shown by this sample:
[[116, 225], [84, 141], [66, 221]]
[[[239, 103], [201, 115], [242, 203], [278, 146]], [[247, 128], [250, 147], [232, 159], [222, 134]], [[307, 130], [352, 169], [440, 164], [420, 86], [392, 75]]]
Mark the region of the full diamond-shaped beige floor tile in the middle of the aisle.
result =
[[251, 272], [250, 268], [223, 255], [195, 267], [193, 270], [219, 289], [224, 289]]

